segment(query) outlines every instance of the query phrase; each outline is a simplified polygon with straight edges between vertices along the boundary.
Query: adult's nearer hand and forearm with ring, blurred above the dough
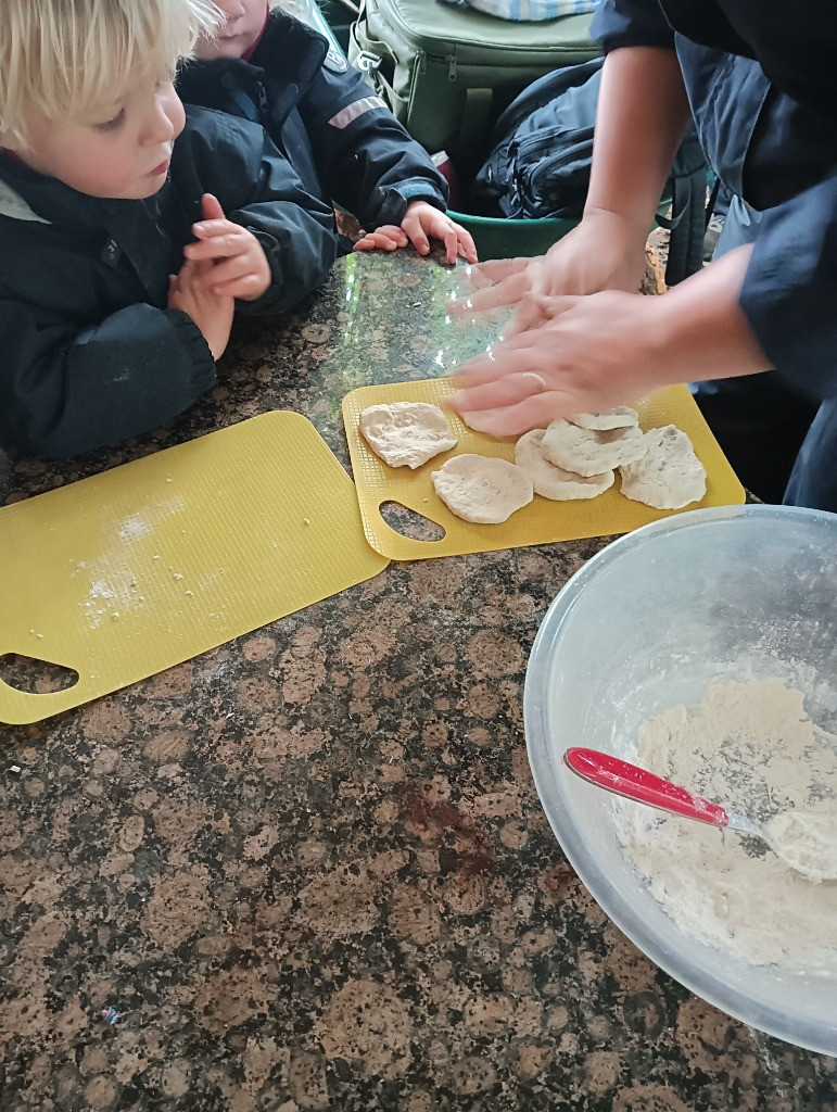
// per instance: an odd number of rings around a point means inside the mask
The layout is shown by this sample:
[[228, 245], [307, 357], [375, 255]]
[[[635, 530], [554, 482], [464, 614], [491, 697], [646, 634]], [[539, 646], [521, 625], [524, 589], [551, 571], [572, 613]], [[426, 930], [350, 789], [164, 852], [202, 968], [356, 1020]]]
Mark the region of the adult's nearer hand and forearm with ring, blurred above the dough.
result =
[[662, 386], [769, 370], [740, 306], [751, 251], [729, 251], [662, 297], [606, 290], [552, 299], [540, 327], [461, 365], [465, 389], [454, 408], [496, 410], [485, 427], [510, 436]]

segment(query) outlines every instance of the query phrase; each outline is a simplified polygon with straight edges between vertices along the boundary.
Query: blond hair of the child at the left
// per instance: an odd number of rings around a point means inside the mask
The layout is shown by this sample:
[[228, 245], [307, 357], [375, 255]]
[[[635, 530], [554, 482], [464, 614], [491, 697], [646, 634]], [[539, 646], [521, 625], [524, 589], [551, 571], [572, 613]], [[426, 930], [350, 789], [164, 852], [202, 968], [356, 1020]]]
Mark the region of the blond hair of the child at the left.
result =
[[211, 0], [0, 0], [0, 136], [83, 117], [129, 75], [173, 75], [221, 16]]

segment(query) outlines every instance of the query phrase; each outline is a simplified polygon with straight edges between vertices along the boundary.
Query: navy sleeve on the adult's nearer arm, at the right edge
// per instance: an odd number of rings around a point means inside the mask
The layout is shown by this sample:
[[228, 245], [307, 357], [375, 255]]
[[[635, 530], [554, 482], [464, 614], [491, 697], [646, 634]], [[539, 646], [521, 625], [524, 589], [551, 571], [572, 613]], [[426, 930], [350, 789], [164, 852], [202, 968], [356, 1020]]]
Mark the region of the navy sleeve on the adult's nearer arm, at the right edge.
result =
[[764, 214], [740, 305], [779, 377], [837, 396], [837, 175]]

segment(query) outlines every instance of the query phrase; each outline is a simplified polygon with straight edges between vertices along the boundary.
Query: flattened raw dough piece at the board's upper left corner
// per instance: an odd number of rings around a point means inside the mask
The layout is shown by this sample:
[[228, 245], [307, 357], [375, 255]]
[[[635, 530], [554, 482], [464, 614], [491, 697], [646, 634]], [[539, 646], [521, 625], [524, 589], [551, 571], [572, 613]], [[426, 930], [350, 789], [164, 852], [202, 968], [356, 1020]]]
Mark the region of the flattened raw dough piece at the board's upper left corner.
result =
[[369, 406], [360, 415], [360, 431], [390, 467], [420, 467], [458, 443], [441, 409], [427, 401]]

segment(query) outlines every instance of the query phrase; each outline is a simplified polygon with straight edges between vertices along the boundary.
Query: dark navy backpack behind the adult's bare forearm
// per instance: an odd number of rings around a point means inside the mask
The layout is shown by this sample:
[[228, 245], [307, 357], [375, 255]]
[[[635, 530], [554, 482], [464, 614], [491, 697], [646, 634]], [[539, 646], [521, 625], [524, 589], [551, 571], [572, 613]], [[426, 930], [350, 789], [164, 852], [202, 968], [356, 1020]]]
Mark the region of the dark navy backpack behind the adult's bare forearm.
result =
[[[514, 220], [580, 218], [590, 180], [602, 59], [568, 66], [535, 81], [500, 116], [491, 153], [477, 173], [474, 200], [485, 216]], [[666, 281], [682, 281], [703, 265], [706, 161], [697, 136], [686, 136], [665, 197], [671, 216]]]

